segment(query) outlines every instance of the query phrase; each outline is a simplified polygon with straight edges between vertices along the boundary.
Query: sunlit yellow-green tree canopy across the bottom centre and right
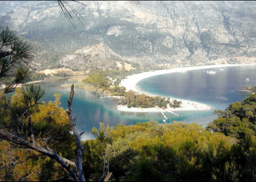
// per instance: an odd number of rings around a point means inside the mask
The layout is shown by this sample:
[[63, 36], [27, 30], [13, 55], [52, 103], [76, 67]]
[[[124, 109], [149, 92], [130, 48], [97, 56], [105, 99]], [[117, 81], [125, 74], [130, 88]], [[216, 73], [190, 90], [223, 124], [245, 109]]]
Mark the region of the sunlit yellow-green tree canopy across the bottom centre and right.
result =
[[[99, 131], [106, 129], [101, 126], [93, 131], [96, 140], [88, 143], [91, 151], [98, 150], [97, 143], [103, 141]], [[153, 120], [129, 126], [119, 124], [108, 134], [112, 138], [108, 143], [109, 169], [115, 180], [253, 180], [254, 168], [248, 165], [255, 163], [255, 141], [251, 137], [238, 142], [195, 123], [167, 125]], [[106, 156], [106, 150], [102, 151]], [[91, 163], [86, 166], [94, 164], [100, 169], [99, 163], [92, 162], [96, 156], [87, 158]], [[94, 170], [91, 168], [91, 172]], [[96, 176], [94, 180], [100, 178]]]

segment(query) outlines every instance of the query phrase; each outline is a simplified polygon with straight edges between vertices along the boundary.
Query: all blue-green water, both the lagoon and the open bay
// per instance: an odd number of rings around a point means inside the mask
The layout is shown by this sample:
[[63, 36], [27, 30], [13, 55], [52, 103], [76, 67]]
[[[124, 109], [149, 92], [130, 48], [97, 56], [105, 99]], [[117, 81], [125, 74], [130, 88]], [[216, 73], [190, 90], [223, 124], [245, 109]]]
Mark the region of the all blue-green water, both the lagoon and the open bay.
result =
[[[197, 122], [206, 126], [207, 123], [217, 118], [212, 115], [214, 109], [224, 110], [230, 103], [241, 101], [248, 96], [239, 91], [241, 86], [256, 85], [256, 66], [232, 66], [224, 67], [224, 71], [216, 68], [216, 74], [207, 74], [206, 70], [194, 70], [177, 72], [165, 75], [152, 76], [137, 83], [142, 91], [161, 96], [170, 96], [190, 101], [198, 101], [212, 106], [211, 111], [177, 111], [179, 116], [165, 113], [168, 123], [171, 121], [183, 121], [185, 123]], [[211, 69], [212, 70], [212, 69]], [[215, 69], [214, 69], [215, 70]], [[245, 81], [249, 78], [249, 81]], [[44, 97], [46, 102], [54, 100], [54, 93], [61, 93], [61, 106], [67, 109], [67, 100], [70, 88], [60, 87], [62, 84], [70, 84], [68, 79], [50, 80], [39, 82], [46, 90]], [[116, 126], [136, 124], [149, 121], [151, 118], [162, 123], [161, 113], [136, 113], [117, 110], [118, 99], [100, 98], [100, 94], [82, 88], [74, 88], [73, 111], [77, 117], [77, 125], [81, 131], [85, 131], [82, 139], [93, 138], [91, 129], [99, 127], [99, 122]]]

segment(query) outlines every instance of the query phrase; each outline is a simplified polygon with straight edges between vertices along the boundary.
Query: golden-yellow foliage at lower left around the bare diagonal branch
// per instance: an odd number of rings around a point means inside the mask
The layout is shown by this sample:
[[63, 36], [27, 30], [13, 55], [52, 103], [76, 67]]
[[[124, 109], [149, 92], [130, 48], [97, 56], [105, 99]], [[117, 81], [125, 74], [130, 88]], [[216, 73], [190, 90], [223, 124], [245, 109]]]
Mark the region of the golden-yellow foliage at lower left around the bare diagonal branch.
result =
[[[8, 106], [32, 106], [31, 108], [33, 110], [25, 112], [25, 110], [21, 109], [18, 110], [19, 112], [16, 110], [7, 112], [6, 116], [8, 117], [4, 117], [6, 131], [19, 131], [20, 135], [26, 140], [30, 140], [27, 118], [29, 117], [28, 115], [32, 115], [31, 120], [33, 121], [32, 128], [35, 139], [39, 143], [44, 143], [44, 145], [55, 150], [57, 154], [69, 160], [74, 160], [76, 144], [71, 134], [71, 127], [66, 111], [58, 107], [60, 104], [60, 94], [55, 94], [56, 100], [54, 103], [49, 102], [47, 105], [34, 105], [34, 103], [38, 103], [38, 99], [42, 94], [44, 92], [39, 86], [28, 86], [17, 89]], [[24, 118], [21, 119], [20, 115], [24, 115]], [[66, 148], [66, 146], [69, 147]], [[1, 180], [54, 180], [65, 175], [60, 170], [59, 165], [56, 165], [55, 160], [40, 155], [37, 151], [17, 148], [8, 145], [7, 141], [0, 142], [0, 150], [0, 161], [6, 161], [5, 165], [0, 163]], [[40, 156], [30, 157], [33, 155]], [[27, 157], [29, 158], [26, 159]], [[22, 162], [23, 160], [24, 162]], [[35, 173], [34, 171], [38, 172]]]

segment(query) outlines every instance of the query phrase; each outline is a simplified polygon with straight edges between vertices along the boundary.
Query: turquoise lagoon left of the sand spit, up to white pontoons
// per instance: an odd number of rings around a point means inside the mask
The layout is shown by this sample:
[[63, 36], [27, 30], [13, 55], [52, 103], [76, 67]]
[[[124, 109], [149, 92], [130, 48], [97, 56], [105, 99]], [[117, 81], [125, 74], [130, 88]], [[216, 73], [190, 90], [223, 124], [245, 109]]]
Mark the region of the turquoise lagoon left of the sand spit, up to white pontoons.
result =
[[[43, 100], [45, 102], [53, 101], [54, 93], [61, 93], [61, 107], [67, 109], [67, 100], [70, 96], [72, 82], [67, 79], [48, 80], [39, 82], [47, 92]], [[62, 84], [70, 84], [70, 88], [60, 87]], [[161, 113], [135, 113], [123, 112], [117, 110], [119, 99], [100, 98], [100, 94], [83, 88], [74, 88], [75, 95], [73, 99], [73, 115], [77, 116], [76, 123], [80, 132], [85, 131], [82, 139], [93, 138], [91, 129], [99, 127], [99, 122], [105, 125], [116, 126], [118, 123], [123, 125], [136, 124], [137, 122], [149, 121], [150, 118], [162, 121]]]

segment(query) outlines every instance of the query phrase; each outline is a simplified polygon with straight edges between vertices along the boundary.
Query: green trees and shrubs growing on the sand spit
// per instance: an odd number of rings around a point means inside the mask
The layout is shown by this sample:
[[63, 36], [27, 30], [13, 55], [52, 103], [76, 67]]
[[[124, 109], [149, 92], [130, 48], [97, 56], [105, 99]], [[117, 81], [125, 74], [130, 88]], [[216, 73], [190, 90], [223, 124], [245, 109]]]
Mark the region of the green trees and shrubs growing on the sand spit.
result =
[[[138, 71], [138, 73], [140, 71]], [[83, 79], [82, 81], [90, 86], [93, 86], [95, 90], [103, 93], [104, 95], [122, 96], [118, 105], [127, 105], [128, 108], [147, 108], [155, 106], [159, 108], [167, 108], [168, 104], [170, 104], [170, 107], [180, 107], [180, 101], [170, 101], [170, 98], [166, 99], [160, 96], [146, 96], [144, 93], [138, 94], [132, 90], [126, 92], [125, 88], [119, 86], [120, 81], [121, 79], [125, 78], [125, 76], [131, 75], [133, 73], [134, 70], [97, 70], [90, 72], [88, 75], [89, 77]]]

